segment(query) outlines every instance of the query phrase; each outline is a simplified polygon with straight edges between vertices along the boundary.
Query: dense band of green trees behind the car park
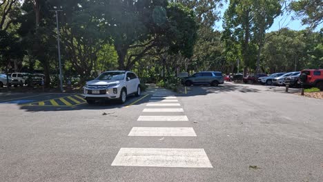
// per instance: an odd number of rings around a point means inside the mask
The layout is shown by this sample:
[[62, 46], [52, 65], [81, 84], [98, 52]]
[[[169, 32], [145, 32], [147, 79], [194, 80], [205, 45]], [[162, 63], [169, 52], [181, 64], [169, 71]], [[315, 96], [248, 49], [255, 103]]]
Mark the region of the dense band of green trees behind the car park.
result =
[[[267, 32], [286, 1], [0, 0], [1, 72], [58, 74], [56, 7], [65, 79], [134, 70], [144, 81], [179, 72], [276, 72], [323, 67], [320, 1], [291, 1], [309, 30]], [[223, 19], [224, 30], [215, 30]], [[239, 68], [237, 68], [239, 60]], [[238, 70], [237, 70], [238, 69]]]

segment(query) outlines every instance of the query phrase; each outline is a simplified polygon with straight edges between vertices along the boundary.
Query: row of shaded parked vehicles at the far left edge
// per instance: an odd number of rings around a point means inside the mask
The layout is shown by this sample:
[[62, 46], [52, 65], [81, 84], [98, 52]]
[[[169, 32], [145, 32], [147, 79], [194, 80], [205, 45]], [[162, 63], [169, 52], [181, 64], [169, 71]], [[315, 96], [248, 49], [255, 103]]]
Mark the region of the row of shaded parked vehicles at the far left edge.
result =
[[40, 73], [30, 74], [27, 72], [14, 72], [10, 75], [0, 74], [0, 87], [3, 87], [3, 85], [13, 85], [14, 87], [18, 85], [42, 85], [43, 77], [44, 75]]

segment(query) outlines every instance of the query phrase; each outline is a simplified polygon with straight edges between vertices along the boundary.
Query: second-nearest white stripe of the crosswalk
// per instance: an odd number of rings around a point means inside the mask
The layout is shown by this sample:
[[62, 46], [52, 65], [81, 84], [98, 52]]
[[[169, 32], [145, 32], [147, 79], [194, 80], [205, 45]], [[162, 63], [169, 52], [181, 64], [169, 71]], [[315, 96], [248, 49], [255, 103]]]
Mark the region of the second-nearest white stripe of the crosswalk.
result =
[[128, 136], [196, 136], [193, 128], [134, 127]]

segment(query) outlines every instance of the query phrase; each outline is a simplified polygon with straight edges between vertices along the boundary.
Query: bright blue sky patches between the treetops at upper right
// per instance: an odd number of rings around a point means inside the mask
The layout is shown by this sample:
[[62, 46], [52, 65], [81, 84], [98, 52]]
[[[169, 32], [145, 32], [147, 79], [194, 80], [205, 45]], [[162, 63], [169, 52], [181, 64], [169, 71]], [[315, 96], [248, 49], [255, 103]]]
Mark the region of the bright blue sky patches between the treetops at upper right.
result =
[[[224, 3], [224, 6], [221, 10], [221, 17], [223, 17], [223, 14], [226, 8], [228, 8], [228, 3]], [[302, 21], [300, 19], [292, 20], [292, 15], [293, 14], [285, 14], [284, 16], [277, 17], [273, 23], [273, 26], [271, 26], [271, 28], [269, 28], [266, 32], [279, 30], [280, 26], [281, 27], [284, 26], [291, 30], [304, 30], [308, 27], [308, 26], [302, 26]], [[223, 30], [222, 24], [223, 24], [222, 19], [220, 19], [215, 23], [215, 29]]]

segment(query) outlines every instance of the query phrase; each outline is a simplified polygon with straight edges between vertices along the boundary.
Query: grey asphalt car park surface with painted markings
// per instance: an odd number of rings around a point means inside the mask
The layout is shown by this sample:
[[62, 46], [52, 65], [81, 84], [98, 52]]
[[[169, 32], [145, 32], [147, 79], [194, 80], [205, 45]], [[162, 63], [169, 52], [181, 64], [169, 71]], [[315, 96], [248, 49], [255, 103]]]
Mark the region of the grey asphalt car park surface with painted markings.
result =
[[0, 93], [0, 137], [0, 181], [323, 181], [323, 100], [277, 87]]

